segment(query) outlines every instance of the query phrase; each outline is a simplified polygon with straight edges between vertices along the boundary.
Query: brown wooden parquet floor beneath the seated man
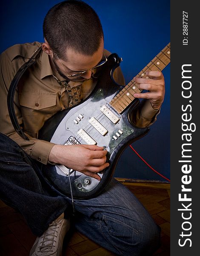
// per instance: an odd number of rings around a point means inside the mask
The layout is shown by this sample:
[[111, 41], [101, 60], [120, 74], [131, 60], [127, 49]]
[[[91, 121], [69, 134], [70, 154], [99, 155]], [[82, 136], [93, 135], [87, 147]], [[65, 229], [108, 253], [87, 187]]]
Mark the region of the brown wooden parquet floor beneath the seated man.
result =
[[[117, 180], [123, 182], [137, 196], [162, 229], [162, 245], [154, 256], [169, 256], [170, 185]], [[35, 239], [23, 217], [0, 201], [0, 255], [29, 256]], [[63, 248], [63, 256], [114, 256], [114, 254], [75, 231], [67, 246]]]

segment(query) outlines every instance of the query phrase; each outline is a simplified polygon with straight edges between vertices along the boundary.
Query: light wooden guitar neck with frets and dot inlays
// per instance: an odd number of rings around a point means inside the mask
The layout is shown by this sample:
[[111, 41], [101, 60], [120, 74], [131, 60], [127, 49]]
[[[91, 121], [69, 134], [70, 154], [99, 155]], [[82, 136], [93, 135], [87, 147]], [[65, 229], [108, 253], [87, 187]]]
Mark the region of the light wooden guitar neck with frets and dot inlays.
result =
[[[149, 78], [146, 72], [149, 70], [163, 70], [170, 62], [170, 43], [149, 62], [137, 77]], [[135, 81], [131, 80], [121, 91], [118, 93], [109, 104], [118, 112], [122, 113], [134, 101], [134, 93], [141, 93], [143, 90], [138, 88]]]

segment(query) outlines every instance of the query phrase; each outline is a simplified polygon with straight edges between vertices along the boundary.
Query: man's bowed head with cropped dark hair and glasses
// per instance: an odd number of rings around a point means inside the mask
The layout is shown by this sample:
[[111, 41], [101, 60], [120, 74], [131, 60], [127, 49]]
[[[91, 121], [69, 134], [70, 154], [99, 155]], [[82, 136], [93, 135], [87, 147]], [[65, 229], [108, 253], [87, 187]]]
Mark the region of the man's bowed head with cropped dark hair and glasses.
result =
[[43, 51], [51, 56], [64, 78], [74, 81], [89, 78], [91, 71], [81, 77], [69, 78], [67, 74], [89, 70], [103, 57], [103, 30], [99, 17], [82, 1], [63, 1], [53, 6], [44, 19], [43, 34]]

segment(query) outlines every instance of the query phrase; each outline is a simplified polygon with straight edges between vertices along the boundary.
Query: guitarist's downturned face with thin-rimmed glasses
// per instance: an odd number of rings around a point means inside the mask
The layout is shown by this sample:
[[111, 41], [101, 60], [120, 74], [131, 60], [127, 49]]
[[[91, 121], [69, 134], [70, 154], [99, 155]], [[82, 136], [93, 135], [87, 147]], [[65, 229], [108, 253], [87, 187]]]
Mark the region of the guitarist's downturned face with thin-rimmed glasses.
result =
[[[89, 70], [95, 67], [103, 58], [103, 40], [97, 52], [93, 55], [82, 55], [75, 52], [73, 49], [66, 50], [67, 61], [57, 58], [54, 54], [52, 61], [54, 63], [55, 69], [61, 77], [65, 80], [70, 81], [85, 81], [90, 79], [92, 70]], [[81, 71], [89, 70], [86, 73], [81, 74], [80, 76], [69, 77], [75, 73]], [[68, 76], [69, 75], [69, 76]]]

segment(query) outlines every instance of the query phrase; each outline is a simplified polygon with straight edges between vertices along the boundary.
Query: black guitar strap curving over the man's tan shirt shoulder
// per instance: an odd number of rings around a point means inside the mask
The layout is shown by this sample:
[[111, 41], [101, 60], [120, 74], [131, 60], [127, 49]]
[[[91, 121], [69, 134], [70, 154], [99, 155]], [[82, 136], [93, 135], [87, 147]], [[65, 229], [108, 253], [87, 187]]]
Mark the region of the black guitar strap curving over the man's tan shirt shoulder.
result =
[[29, 138], [23, 133], [20, 124], [17, 120], [17, 116], [14, 111], [14, 93], [17, 88], [17, 84], [20, 81], [20, 78], [22, 77], [23, 73], [29, 68], [32, 64], [35, 63], [34, 58], [37, 58], [42, 50], [42, 47], [38, 48], [34, 55], [31, 56], [29, 61], [24, 63], [22, 67], [17, 71], [15, 74], [14, 78], [11, 81], [8, 96], [7, 96], [7, 106], [8, 106], [8, 111], [9, 111], [9, 116], [12, 122], [12, 125], [15, 129], [15, 131], [24, 139], [24, 140], [29, 140]]

